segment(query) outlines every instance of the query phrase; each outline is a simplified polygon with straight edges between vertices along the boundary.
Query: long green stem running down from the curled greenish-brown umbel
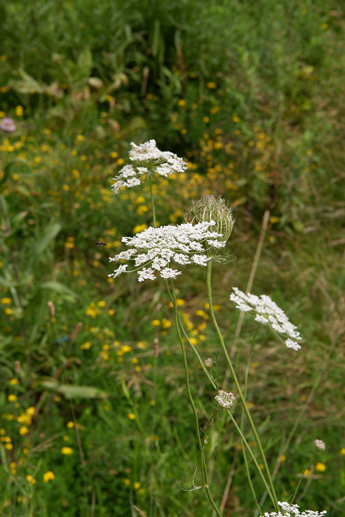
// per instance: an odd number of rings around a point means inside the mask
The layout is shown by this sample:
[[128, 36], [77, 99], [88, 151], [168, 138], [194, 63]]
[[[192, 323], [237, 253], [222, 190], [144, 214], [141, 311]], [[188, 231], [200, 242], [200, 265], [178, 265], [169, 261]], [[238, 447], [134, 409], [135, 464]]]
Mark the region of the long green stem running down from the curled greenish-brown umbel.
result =
[[261, 458], [262, 458], [262, 461], [263, 461], [263, 464], [264, 464], [264, 467], [265, 467], [265, 470], [266, 470], [266, 475], [267, 475], [267, 478], [268, 478], [268, 482], [269, 482], [269, 486], [271, 486], [271, 490], [272, 490], [272, 495], [273, 495], [273, 502], [274, 502], [274, 506], [276, 508], [276, 511], [279, 512], [279, 507], [278, 507], [278, 500], [277, 500], [277, 496], [276, 496], [276, 493], [275, 493], [275, 490], [274, 490], [274, 486], [273, 486], [273, 481], [272, 481], [272, 478], [271, 478], [271, 474], [269, 473], [269, 468], [268, 468], [268, 465], [267, 465], [267, 461], [266, 461], [266, 457], [265, 457], [265, 453], [264, 453], [264, 450], [262, 448], [262, 445], [261, 445], [261, 442], [260, 442], [260, 438], [259, 438], [259, 435], [258, 435], [258, 432], [256, 430], [256, 427], [254, 425], [254, 422], [251, 418], [251, 415], [249, 413], [249, 409], [247, 407], [247, 404], [246, 404], [246, 399], [245, 397], [243, 396], [243, 392], [242, 392], [242, 389], [241, 389], [241, 386], [239, 385], [239, 382], [238, 382], [238, 379], [237, 379], [237, 376], [236, 376], [236, 373], [235, 373], [235, 370], [232, 366], [232, 362], [231, 362], [231, 359], [229, 357], [229, 354], [228, 354], [228, 351], [227, 351], [227, 347], [225, 346], [224, 344], [224, 340], [223, 340], [223, 337], [221, 335], [221, 332], [220, 332], [220, 329], [218, 327], [218, 323], [217, 323], [217, 320], [216, 320], [216, 317], [215, 317], [215, 313], [214, 313], [214, 310], [213, 310], [213, 304], [212, 304], [212, 290], [211, 290], [211, 271], [212, 271], [212, 260], [209, 260], [208, 261], [208, 264], [207, 264], [207, 292], [208, 292], [208, 303], [209, 303], [209, 312], [211, 313], [211, 317], [212, 317], [212, 321], [213, 321], [213, 324], [215, 326], [215, 329], [216, 329], [216, 332], [218, 334], [218, 337], [219, 337], [219, 341], [220, 341], [220, 344], [221, 344], [221, 347], [223, 349], [223, 352], [224, 352], [224, 355], [227, 359], [227, 362], [228, 362], [228, 366], [230, 368], [230, 371], [231, 371], [231, 374], [232, 374], [232, 377], [234, 379], [234, 383], [235, 383], [235, 386], [236, 386], [236, 389], [238, 391], [238, 395], [239, 395], [239, 398], [241, 399], [242, 401], [242, 404], [243, 404], [243, 407], [244, 407], [244, 410], [245, 410], [245, 413], [247, 415], [247, 418], [248, 418], [248, 422], [250, 424], [250, 428], [253, 432], [253, 435], [254, 435], [254, 438], [256, 439], [256, 442], [258, 444], [258, 447], [259, 447], [259, 451], [260, 451], [260, 455], [261, 455]]

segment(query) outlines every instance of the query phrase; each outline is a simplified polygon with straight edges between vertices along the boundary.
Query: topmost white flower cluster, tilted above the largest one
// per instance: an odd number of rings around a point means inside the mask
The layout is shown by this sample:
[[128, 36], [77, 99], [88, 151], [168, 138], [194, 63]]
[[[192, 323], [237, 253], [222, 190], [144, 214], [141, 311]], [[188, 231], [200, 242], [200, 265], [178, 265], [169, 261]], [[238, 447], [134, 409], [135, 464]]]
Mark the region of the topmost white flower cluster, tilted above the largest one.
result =
[[137, 162], [144, 162], [145, 166], [133, 166], [125, 165], [118, 176], [113, 178], [115, 183], [112, 185], [112, 189], [115, 193], [121, 189], [121, 187], [134, 187], [140, 185], [141, 180], [144, 179], [151, 173], [157, 173], [160, 176], [167, 177], [168, 174], [174, 172], [184, 172], [187, 169], [187, 164], [182, 158], [179, 158], [170, 151], [160, 151], [156, 147], [155, 140], [149, 140], [144, 144], [136, 145], [133, 142], [130, 144], [132, 149], [129, 151], [129, 159]]

